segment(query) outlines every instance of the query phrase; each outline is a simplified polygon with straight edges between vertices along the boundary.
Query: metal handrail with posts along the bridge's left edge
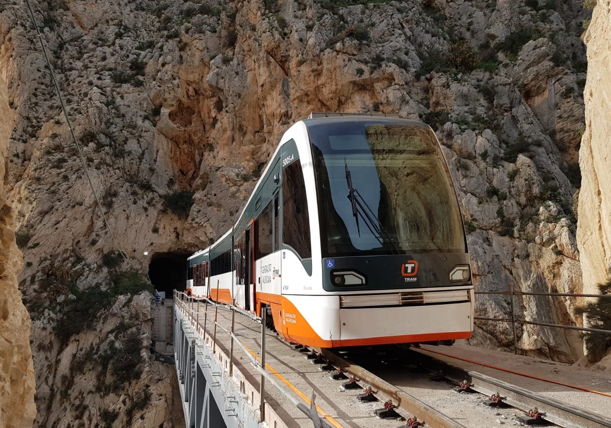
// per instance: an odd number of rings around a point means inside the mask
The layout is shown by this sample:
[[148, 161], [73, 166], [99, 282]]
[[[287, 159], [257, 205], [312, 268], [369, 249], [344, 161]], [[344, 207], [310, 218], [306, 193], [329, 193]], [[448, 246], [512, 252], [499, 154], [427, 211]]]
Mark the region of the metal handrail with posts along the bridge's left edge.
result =
[[[184, 297], [184, 298], [181, 298]], [[181, 310], [183, 308], [186, 309], [186, 311], [188, 313], [184, 313], [186, 317], [189, 318], [191, 325], [193, 325], [194, 327], [196, 327], [196, 331], [197, 331], [197, 327], [199, 326], [199, 319], [197, 320], [196, 324], [194, 325], [193, 321], [194, 321], [194, 317], [192, 312], [194, 312], [194, 310], [192, 308], [189, 309], [189, 304], [187, 302], [188, 296], [186, 295], [186, 293], [183, 292], [179, 292], [178, 290], [174, 290], [174, 298], [175, 301], [178, 301], [178, 304], [175, 305], [175, 308]], [[240, 312], [243, 313], [242, 311], [238, 310], [237, 308], [233, 308], [233, 306], [229, 306], [226, 304], [222, 304], [222, 303], [216, 303], [213, 300], [210, 300], [208, 298], [199, 298], [198, 300], [206, 300], [207, 306], [208, 304], [212, 304], [213, 306], [215, 306], [215, 309], [218, 309], [218, 306], [224, 306], [229, 308], [232, 313], [235, 312]], [[193, 301], [194, 299], [191, 299], [191, 301]], [[182, 312], [182, 311], [181, 311]], [[197, 315], [199, 315], [199, 302], [198, 302], [198, 310], [197, 310]], [[208, 318], [208, 311], [207, 309], [204, 309], [205, 315], [206, 315], [206, 319]], [[252, 315], [251, 315], [252, 317]], [[233, 318], [233, 315], [232, 315]], [[246, 349], [246, 346], [240, 341], [240, 339], [238, 339], [238, 337], [233, 333], [233, 331], [231, 330], [227, 330], [226, 328], [222, 327], [222, 325], [217, 322], [216, 317], [214, 317], [213, 320], [211, 320], [214, 323], [214, 330], [216, 332], [216, 327], [220, 328], [221, 331], [224, 331], [224, 333], [229, 334], [230, 338], [232, 338], [232, 351], [233, 351], [233, 342], [236, 342], [238, 344], [238, 346], [243, 350], [244, 354], [246, 354], [246, 356], [251, 360], [251, 364], [252, 366], [254, 366], [255, 370], [258, 371], [262, 377], [264, 377], [265, 379], [269, 380], [269, 382], [271, 382], [272, 385], [276, 386], [276, 389], [278, 389], [278, 391], [284, 395], [285, 397], [288, 398], [288, 400], [290, 400], [300, 411], [302, 411], [302, 413], [304, 413], [305, 416], [307, 416], [308, 418], [310, 418], [314, 424], [315, 428], [330, 428], [329, 425], [322, 421], [320, 419], [320, 416], [318, 415], [318, 411], [316, 411], [316, 405], [314, 403], [314, 399], [315, 399], [315, 394], [312, 391], [312, 400], [310, 403], [310, 408], [308, 408], [307, 406], [305, 406], [305, 404], [299, 402], [298, 399], [296, 399], [295, 397], [293, 397], [290, 393], [288, 393], [288, 391], [285, 388], [282, 388], [282, 386], [276, 382], [276, 379], [273, 378], [273, 376], [271, 374], [269, 374], [268, 372], [265, 371], [265, 363], [260, 363], [259, 361], [257, 361], [257, 358]], [[232, 321], [232, 328], [233, 328], [233, 321]], [[262, 323], [262, 331], [265, 333], [265, 324]], [[203, 334], [205, 336], [206, 331], [203, 331]], [[263, 333], [262, 333], [263, 334]], [[204, 337], [205, 339], [205, 337]], [[263, 343], [263, 339], [265, 339], [262, 336], [262, 343]], [[216, 347], [216, 334], [214, 334], [214, 347]], [[265, 352], [265, 350], [263, 350], [263, 352]], [[231, 354], [233, 354], [233, 352], [231, 352]], [[263, 358], [262, 358], [262, 361]], [[233, 355], [230, 356], [230, 365], [233, 366]], [[262, 382], [262, 386], [263, 386], [263, 382]], [[262, 390], [261, 391], [261, 398], [262, 398], [262, 402], [263, 402], [263, 393], [265, 391]], [[263, 412], [261, 413], [262, 416], [264, 416]], [[263, 418], [262, 422], [265, 419]]]

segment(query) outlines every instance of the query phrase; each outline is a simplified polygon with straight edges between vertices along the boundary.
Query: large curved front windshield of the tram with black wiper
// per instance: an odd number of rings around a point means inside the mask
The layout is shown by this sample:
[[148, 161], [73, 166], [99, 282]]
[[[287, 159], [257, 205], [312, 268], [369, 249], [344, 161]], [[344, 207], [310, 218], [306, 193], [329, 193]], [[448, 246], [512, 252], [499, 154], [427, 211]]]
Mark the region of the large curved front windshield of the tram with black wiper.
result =
[[464, 253], [458, 201], [428, 128], [371, 121], [308, 130], [323, 257]]

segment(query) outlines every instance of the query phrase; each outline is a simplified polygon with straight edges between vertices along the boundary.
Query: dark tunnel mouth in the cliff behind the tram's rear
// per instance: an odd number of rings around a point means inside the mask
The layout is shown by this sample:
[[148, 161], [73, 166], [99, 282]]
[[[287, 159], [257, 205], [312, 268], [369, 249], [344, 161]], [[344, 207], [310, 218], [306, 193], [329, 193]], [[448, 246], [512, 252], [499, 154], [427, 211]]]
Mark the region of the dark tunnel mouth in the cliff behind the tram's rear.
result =
[[148, 265], [148, 278], [155, 290], [166, 292], [172, 298], [172, 290], [185, 291], [187, 281], [187, 257], [189, 253], [160, 253], [153, 255]]

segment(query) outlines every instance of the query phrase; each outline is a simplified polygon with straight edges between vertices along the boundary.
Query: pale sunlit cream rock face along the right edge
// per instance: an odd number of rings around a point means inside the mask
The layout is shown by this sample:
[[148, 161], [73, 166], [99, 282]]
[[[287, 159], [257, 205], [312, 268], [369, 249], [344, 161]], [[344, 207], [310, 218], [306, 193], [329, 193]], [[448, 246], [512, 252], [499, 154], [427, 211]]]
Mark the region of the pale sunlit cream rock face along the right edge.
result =
[[577, 242], [584, 271], [584, 292], [597, 293], [597, 284], [611, 272], [611, 2], [594, 9], [585, 42], [588, 80], [585, 84], [585, 133], [579, 150], [583, 186], [579, 193]]

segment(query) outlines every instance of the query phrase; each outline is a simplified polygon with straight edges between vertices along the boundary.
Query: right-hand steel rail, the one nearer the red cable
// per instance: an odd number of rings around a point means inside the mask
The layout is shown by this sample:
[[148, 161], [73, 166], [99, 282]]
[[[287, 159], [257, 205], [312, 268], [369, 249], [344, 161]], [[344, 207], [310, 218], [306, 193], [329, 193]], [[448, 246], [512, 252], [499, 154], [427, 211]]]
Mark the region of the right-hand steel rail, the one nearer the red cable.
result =
[[[474, 391], [488, 397], [492, 394], [499, 393], [501, 396], [507, 397], [507, 400], [505, 400], [507, 404], [524, 411], [524, 413], [528, 413], [530, 409], [536, 407], [540, 411], [544, 411], [546, 413], [546, 416], [544, 416], [546, 421], [550, 421], [560, 427], [611, 427], [611, 419], [604, 416], [596, 415], [596, 413], [591, 413], [590, 411], [573, 407], [566, 402], [552, 399], [551, 397], [544, 396], [543, 394], [529, 391], [528, 389], [521, 388], [517, 385], [512, 385], [511, 383], [503, 382], [502, 380], [481, 374], [479, 372], [467, 371], [461, 369], [460, 367], [453, 366], [450, 363], [436, 358], [434, 355], [430, 355], [430, 353], [425, 353], [426, 349], [412, 349], [412, 351], [417, 352], [420, 355], [433, 358], [436, 363], [439, 364], [439, 366], [444, 367], [445, 373], [453, 374], [455, 377], [461, 380], [466, 379], [470, 383], [474, 383], [474, 386], [470, 387], [471, 389], [474, 389]], [[474, 379], [477, 380], [477, 382], [474, 381]], [[456, 383], [460, 382], [460, 380], [456, 379], [454, 379], [454, 381]], [[544, 381], [542, 380], [541, 382]]]

